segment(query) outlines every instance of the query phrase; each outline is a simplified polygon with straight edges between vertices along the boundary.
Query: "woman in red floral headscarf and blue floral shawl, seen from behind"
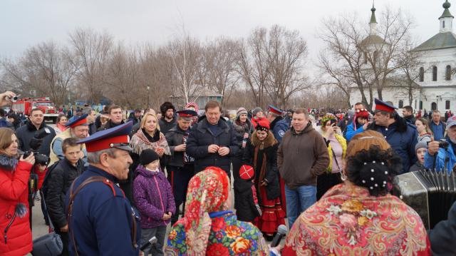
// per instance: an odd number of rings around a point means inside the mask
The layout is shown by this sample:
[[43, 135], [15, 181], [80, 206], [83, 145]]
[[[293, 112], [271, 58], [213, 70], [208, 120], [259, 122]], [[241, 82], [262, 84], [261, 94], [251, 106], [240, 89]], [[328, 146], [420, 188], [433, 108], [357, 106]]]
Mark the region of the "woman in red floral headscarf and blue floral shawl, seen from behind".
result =
[[165, 255], [269, 255], [258, 228], [228, 210], [230, 198], [224, 170], [208, 167], [193, 176], [185, 216], [172, 227]]

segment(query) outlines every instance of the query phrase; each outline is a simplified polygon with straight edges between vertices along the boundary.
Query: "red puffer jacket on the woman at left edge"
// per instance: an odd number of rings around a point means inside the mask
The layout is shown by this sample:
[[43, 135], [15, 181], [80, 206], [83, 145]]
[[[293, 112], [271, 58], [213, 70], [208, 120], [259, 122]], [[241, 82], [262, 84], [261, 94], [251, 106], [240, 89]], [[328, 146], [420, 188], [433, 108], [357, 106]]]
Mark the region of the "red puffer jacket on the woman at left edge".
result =
[[[32, 239], [28, 221], [28, 178], [31, 168], [32, 165], [24, 161], [19, 161], [14, 171], [0, 168], [0, 255], [23, 256], [31, 252]], [[46, 171], [36, 173], [38, 188], [41, 188]], [[15, 215], [18, 203], [24, 204], [27, 209], [24, 217]], [[11, 225], [6, 230], [10, 222]]]

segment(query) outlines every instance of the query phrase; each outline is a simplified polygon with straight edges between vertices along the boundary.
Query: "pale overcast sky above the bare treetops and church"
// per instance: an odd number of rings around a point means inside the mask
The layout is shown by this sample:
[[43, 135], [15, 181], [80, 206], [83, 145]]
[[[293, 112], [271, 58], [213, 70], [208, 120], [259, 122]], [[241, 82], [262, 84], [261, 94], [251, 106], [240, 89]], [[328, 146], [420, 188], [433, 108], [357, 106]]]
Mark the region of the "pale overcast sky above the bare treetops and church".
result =
[[[438, 33], [443, 2], [376, 0], [375, 8], [377, 18], [385, 6], [413, 16], [413, 34], [421, 43]], [[323, 17], [356, 12], [368, 26], [371, 6], [368, 0], [0, 0], [0, 56], [19, 56], [43, 41], [68, 43], [68, 33], [76, 28], [108, 31], [131, 45], [160, 45], [175, 36], [181, 24], [202, 40], [238, 38], [257, 26], [279, 24], [300, 31], [312, 58], [321, 46], [315, 35]]]

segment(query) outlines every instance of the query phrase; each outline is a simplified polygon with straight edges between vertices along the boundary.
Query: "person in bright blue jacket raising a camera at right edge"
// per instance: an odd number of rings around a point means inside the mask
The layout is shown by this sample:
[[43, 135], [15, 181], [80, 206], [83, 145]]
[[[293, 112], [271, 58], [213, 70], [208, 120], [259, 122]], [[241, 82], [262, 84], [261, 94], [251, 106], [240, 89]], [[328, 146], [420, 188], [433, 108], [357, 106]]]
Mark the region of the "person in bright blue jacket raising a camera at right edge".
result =
[[447, 120], [447, 138], [442, 140], [431, 140], [427, 144], [425, 155], [425, 168], [431, 170], [446, 169], [450, 173], [456, 163], [456, 116]]

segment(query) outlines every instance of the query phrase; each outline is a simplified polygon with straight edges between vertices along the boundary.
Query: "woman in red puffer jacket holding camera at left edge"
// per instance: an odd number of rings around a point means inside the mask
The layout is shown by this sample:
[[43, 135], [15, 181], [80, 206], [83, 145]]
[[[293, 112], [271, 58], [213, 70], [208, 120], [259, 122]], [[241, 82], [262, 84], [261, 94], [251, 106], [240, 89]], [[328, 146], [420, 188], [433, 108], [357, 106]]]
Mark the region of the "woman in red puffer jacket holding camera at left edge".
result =
[[[19, 159], [19, 160], [18, 160]], [[0, 128], [0, 255], [26, 255], [32, 250], [28, 210], [28, 181], [31, 171], [38, 180], [31, 187], [41, 188], [46, 165], [35, 164], [33, 153], [18, 155], [18, 139], [14, 130]]]

